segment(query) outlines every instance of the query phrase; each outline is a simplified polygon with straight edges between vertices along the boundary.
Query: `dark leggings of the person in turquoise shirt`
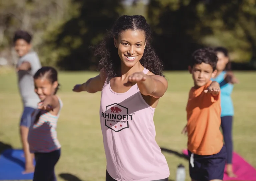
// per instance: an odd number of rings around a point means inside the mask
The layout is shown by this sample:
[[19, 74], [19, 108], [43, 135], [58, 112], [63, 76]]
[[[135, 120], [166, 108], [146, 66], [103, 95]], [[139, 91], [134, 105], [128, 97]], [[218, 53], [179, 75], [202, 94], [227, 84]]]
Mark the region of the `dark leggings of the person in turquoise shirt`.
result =
[[227, 164], [232, 164], [233, 141], [232, 141], [232, 122], [233, 116], [221, 117], [221, 129], [226, 145]]

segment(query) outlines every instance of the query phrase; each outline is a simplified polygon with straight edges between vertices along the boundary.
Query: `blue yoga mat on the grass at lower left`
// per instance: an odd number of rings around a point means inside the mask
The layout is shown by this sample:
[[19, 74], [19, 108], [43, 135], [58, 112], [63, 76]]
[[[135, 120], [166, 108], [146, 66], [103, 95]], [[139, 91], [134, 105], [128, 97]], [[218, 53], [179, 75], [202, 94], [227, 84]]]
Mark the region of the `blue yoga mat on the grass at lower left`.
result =
[[22, 174], [25, 169], [23, 154], [22, 150], [7, 149], [0, 155], [0, 180], [33, 179], [34, 173]]

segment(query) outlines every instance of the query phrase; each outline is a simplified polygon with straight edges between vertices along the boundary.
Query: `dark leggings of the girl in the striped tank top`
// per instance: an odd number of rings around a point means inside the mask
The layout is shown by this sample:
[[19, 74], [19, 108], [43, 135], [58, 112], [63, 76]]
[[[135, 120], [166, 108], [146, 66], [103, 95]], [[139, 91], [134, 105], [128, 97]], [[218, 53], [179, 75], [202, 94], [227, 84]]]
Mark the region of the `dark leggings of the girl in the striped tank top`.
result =
[[36, 167], [33, 181], [57, 181], [54, 166], [60, 158], [60, 149], [49, 153], [35, 153]]

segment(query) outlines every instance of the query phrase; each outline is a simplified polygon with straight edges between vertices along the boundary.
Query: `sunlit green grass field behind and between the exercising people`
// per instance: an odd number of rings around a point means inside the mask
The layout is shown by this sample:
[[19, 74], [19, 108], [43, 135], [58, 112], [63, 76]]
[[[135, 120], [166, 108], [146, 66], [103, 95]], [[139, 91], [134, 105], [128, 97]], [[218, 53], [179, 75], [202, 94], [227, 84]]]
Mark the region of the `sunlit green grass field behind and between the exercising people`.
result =
[[[58, 180], [104, 181], [106, 159], [99, 122], [100, 93], [74, 93], [72, 88], [95, 76], [92, 72], [61, 72], [58, 95], [64, 106], [58, 121], [58, 138], [62, 155], [56, 166]], [[235, 117], [233, 124], [234, 150], [256, 167], [256, 73], [235, 72], [240, 80], [232, 94]], [[185, 107], [188, 91], [192, 86], [188, 72], [166, 72], [169, 88], [155, 110], [156, 140], [163, 151], [169, 169], [170, 180], [175, 180], [176, 167], [188, 161], [181, 157], [187, 138], [181, 135], [186, 124]], [[22, 104], [17, 91], [14, 73], [0, 74], [0, 141], [21, 148], [18, 124]], [[72, 176], [73, 175], [73, 176]], [[65, 177], [65, 178], [64, 178]]]

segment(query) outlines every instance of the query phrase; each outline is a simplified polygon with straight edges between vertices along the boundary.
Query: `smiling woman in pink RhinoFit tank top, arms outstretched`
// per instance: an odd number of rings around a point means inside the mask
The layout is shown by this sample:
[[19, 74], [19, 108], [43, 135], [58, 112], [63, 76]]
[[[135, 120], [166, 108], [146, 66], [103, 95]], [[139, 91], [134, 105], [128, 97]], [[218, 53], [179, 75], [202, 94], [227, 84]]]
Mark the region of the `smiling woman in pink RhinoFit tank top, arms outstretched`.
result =
[[101, 93], [106, 181], [167, 181], [169, 168], [155, 141], [154, 110], [168, 83], [150, 46], [143, 16], [121, 16], [95, 48], [100, 74], [74, 92]]

